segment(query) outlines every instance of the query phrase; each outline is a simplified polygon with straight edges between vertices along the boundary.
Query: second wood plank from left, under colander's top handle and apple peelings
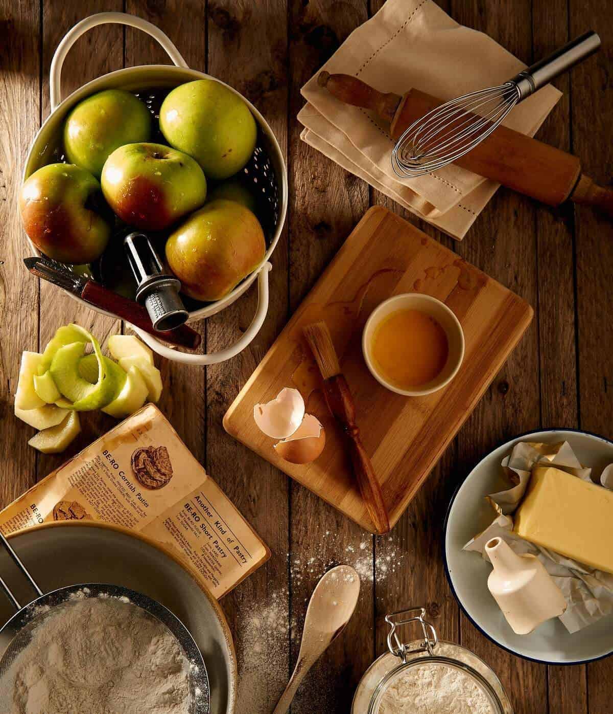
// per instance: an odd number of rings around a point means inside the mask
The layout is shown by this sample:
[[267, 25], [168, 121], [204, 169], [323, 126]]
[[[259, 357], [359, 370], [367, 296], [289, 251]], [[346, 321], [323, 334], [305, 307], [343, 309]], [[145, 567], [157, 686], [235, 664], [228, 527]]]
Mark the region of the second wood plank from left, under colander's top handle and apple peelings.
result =
[[[101, 9], [123, 9], [120, 0], [106, 4], [100, 0], [70, 0], [62, 3], [43, 0], [43, 119], [49, 105], [48, 72], [53, 53], [66, 32], [79, 20]], [[103, 47], [104, 51], [100, 51]], [[78, 39], [68, 54], [62, 72], [62, 96], [114, 69], [123, 66], [123, 34], [118, 26], [101, 26]], [[80, 306], [71, 296], [51, 283], [41, 281], [40, 343], [44, 348], [57, 328], [71, 322], [91, 331], [104, 346], [108, 336], [120, 330], [120, 321], [105, 317], [90, 308]], [[94, 411], [81, 413], [82, 433], [66, 451], [56, 456], [38, 457], [38, 477], [51, 473], [63, 461], [81, 451], [88, 443], [108, 431], [116, 422], [105, 414]]]

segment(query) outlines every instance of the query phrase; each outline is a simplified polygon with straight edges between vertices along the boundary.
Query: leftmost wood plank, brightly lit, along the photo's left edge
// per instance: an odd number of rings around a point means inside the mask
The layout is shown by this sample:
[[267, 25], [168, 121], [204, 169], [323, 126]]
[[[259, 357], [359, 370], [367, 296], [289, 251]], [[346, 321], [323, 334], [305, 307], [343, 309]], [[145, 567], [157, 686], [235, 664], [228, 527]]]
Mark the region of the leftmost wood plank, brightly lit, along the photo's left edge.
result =
[[0, 506], [34, 484], [32, 429], [14, 416], [21, 352], [38, 350], [38, 285], [22, 263], [29, 256], [17, 212], [21, 167], [40, 124], [38, 3], [0, 1]]

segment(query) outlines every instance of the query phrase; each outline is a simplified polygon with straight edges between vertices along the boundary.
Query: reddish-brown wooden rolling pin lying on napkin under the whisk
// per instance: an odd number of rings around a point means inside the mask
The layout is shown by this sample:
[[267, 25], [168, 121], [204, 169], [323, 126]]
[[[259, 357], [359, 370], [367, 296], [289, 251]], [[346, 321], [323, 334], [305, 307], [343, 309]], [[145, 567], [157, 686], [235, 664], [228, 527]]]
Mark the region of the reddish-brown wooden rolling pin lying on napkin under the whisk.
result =
[[[417, 89], [409, 90], [404, 96], [391, 92], [383, 94], [349, 74], [323, 71], [318, 82], [336, 99], [371, 109], [388, 121], [394, 141], [398, 141], [413, 121], [443, 104], [441, 99]], [[560, 206], [565, 201], [586, 203], [613, 217], [613, 188], [598, 186], [582, 174], [577, 156], [506, 126], [499, 126], [454, 163], [548, 206]]]

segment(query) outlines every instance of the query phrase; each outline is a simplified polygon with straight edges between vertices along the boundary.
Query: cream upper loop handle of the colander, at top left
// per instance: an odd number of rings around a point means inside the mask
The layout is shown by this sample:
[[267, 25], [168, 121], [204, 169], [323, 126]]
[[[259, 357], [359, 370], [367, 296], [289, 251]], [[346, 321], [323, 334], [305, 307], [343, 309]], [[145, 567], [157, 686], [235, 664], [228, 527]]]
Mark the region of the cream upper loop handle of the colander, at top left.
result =
[[51, 71], [49, 72], [49, 94], [51, 96], [51, 111], [54, 111], [61, 102], [61, 74], [62, 66], [66, 55], [70, 51], [75, 42], [92, 27], [98, 25], [119, 24], [135, 27], [138, 30], [146, 32], [148, 35], [156, 39], [170, 57], [172, 62], [177, 67], [187, 68], [187, 62], [182, 58], [180, 52], [172, 44], [168, 35], [165, 35], [158, 27], [151, 24], [147, 20], [143, 20], [135, 15], [129, 15], [125, 12], [99, 12], [96, 15], [91, 15], [78, 22], [73, 29], [68, 30], [64, 35], [60, 44], [53, 54], [51, 60]]

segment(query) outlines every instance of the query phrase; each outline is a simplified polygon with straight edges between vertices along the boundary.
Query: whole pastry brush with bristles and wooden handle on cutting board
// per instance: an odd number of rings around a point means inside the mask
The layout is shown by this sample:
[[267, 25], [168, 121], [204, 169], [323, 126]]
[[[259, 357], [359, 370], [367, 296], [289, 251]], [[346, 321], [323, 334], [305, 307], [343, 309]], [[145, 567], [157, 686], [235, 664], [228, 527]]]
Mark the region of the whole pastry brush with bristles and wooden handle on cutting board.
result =
[[381, 486], [361, 442], [360, 431], [356, 424], [354, 398], [351, 396], [346, 379], [341, 374], [339, 358], [336, 356], [328, 326], [324, 322], [316, 322], [307, 325], [303, 333], [324, 378], [324, 396], [328, 408], [346, 434], [351, 466], [376, 532], [388, 533], [389, 517]]

